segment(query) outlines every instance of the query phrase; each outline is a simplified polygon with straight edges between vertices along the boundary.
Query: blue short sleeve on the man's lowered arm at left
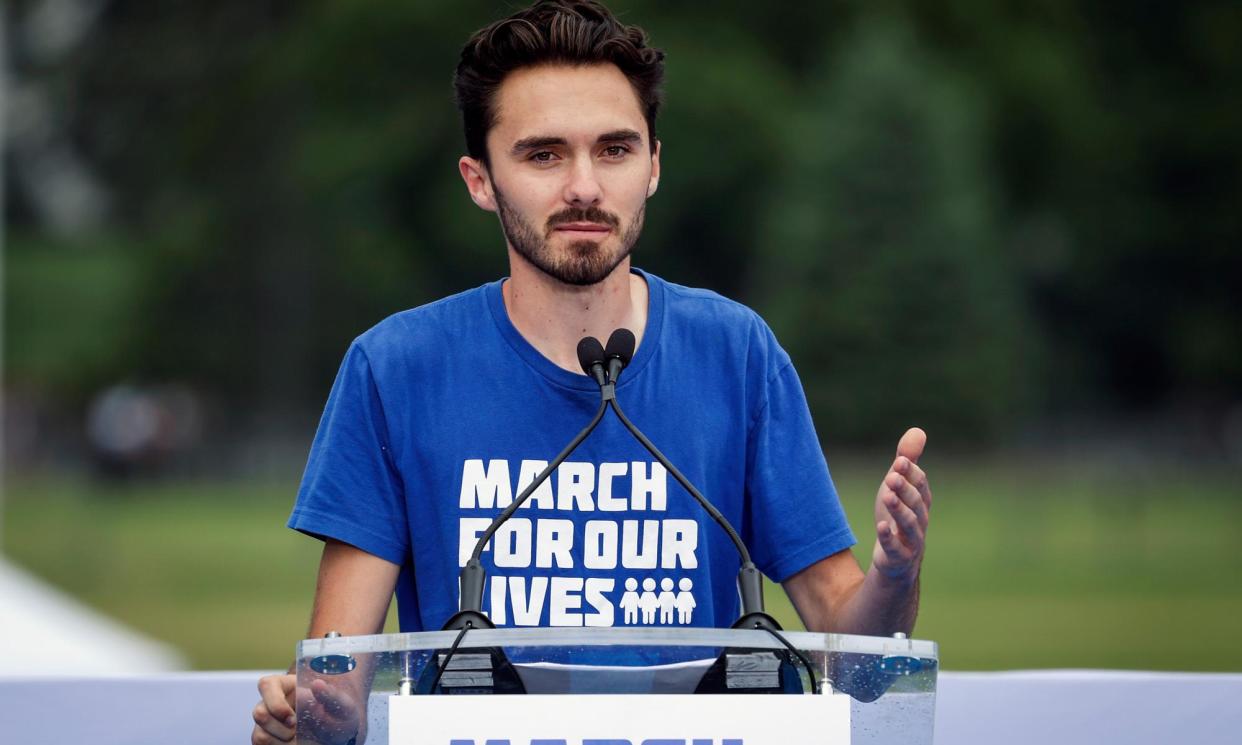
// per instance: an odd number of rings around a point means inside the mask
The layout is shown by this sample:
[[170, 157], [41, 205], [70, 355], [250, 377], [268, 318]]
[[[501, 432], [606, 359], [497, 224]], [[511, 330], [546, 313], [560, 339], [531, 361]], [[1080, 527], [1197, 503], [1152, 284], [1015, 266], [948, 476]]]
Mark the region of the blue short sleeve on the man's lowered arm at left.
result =
[[406, 525], [383, 402], [366, 354], [355, 341], [328, 396], [288, 526], [404, 564]]

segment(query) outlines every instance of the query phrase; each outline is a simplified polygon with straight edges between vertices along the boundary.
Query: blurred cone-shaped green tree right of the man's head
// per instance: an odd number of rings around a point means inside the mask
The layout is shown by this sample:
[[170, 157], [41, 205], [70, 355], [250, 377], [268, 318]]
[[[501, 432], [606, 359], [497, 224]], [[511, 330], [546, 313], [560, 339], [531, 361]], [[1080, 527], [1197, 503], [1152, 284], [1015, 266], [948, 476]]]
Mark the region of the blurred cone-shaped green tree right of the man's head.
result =
[[1031, 335], [976, 91], [891, 17], [859, 22], [805, 89], [755, 297], [815, 381], [822, 428], [996, 433], [1026, 402]]

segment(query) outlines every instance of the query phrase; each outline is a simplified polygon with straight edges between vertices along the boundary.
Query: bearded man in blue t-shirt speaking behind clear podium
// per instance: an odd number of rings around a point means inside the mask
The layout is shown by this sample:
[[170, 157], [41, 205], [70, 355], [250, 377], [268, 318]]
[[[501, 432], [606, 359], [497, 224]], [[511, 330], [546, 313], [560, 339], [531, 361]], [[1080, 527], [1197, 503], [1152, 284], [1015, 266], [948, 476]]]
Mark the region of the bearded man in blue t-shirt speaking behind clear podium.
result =
[[[789, 355], [750, 309], [631, 266], [660, 183], [663, 53], [587, 0], [478, 31], [455, 78], [471, 200], [509, 277], [399, 313], [337, 376], [289, 526], [322, 538], [309, 637], [457, 610], [478, 535], [599, 404], [576, 345], [625, 328], [632, 420], [738, 526], [811, 631], [910, 632], [932, 493], [909, 430], [876, 497], [864, 574]], [[895, 363], [899, 364], [899, 363]], [[497, 533], [484, 607], [504, 626], [718, 626], [738, 554], [615, 417]], [[293, 739], [293, 675], [260, 682], [253, 743]], [[333, 702], [322, 702], [332, 708]]]

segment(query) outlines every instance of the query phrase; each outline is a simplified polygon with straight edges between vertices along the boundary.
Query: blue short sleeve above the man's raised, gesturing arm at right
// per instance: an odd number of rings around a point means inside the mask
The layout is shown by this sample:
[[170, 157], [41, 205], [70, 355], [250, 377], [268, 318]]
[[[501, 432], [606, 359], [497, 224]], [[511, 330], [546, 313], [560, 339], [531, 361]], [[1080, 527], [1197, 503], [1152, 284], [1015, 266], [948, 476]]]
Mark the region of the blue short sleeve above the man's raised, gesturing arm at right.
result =
[[748, 442], [748, 543], [755, 565], [782, 582], [856, 540], [787, 358], [765, 392]]

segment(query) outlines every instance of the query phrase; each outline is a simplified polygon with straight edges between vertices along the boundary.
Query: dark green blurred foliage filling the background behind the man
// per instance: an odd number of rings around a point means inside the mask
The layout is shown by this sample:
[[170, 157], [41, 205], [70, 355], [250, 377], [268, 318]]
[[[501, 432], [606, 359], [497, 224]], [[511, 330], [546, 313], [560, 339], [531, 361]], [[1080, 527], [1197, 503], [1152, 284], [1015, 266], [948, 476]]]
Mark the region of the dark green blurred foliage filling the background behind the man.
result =
[[[611, 6], [668, 55], [636, 263], [755, 307], [830, 456], [919, 423], [976, 464], [1242, 461], [1237, 2]], [[10, 479], [261, 474], [287, 509], [350, 339], [507, 271], [451, 73], [512, 7], [6, 1]], [[138, 394], [153, 435], [108, 445]]]

